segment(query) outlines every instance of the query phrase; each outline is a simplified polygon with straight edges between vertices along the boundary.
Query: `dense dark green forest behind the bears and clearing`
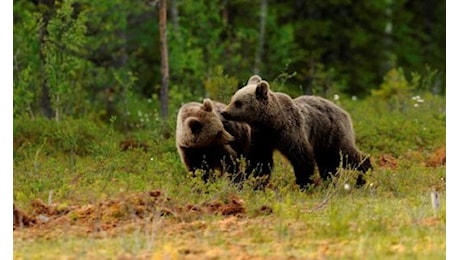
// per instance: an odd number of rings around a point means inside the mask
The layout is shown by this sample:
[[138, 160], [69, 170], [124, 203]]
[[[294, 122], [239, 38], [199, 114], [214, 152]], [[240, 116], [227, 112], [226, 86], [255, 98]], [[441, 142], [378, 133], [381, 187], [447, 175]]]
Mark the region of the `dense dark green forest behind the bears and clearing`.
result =
[[160, 2], [14, 1], [14, 118], [115, 116], [126, 132], [142, 106], [160, 122], [228, 102], [254, 73], [294, 96], [406, 91], [387, 74], [445, 94], [445, 1], [169, 0], [167, 75]]

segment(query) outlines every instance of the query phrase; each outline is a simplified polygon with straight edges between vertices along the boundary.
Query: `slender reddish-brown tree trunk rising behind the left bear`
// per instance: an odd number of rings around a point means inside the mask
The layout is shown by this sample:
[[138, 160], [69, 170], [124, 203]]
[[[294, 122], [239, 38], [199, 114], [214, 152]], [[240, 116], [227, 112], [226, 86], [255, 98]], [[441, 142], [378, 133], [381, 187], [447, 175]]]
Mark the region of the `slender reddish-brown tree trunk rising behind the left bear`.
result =
[[168, 117], [168, 43], [166, 35], [166, 0], [160, 0], [160, 51], [161, 51], [161, 89], [160, 89], [160, 116]]

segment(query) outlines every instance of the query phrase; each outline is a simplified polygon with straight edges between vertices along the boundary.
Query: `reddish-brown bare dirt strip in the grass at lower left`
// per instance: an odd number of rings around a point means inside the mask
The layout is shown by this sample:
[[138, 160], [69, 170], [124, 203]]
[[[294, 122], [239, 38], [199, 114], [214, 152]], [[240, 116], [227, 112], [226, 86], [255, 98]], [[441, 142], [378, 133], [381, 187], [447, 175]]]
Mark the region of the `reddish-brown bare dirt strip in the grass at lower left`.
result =
[[[199, 204], [180, 204], [161, 191], [120, 194], [116, 198], [86, 205], [46, 204], [39, 199], [31, 202], [31, 212], [13, 204], [13, 230], [20, 237], [55, 237], [62, 233], [74, 235], [116, 233], [133, 224], [164, 218], [176, 223], [191, 223], [206, 215], [244, 217], [245, 203], [235, 195], [222, 200]], [[271, 214], [268, 207], [261, 214]]]

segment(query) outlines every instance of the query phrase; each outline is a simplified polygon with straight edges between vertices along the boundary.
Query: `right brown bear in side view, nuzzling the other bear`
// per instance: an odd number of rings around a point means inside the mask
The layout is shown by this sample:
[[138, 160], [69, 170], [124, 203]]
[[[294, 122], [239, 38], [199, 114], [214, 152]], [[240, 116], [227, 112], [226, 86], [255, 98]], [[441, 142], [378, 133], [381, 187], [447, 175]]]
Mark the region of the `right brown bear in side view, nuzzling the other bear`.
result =
[[324, 98], [292, 99], [271, 91], [267, 81], [254, 75], [233, 95], [222, 115], [250, 125], [250, 156], [266, 162], [259, 174], [271, 173], [274, 149], [291, 162], [301, 188], [313, 184], [315, 162], [322, 179], [335, 174], [340, 166], [361, 171], [358, 186], [365, 183], [362, 173], [372, 168], [369, 157], [356, 148], [349, 114]]

